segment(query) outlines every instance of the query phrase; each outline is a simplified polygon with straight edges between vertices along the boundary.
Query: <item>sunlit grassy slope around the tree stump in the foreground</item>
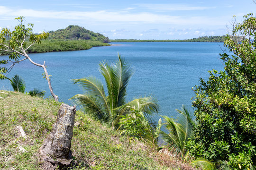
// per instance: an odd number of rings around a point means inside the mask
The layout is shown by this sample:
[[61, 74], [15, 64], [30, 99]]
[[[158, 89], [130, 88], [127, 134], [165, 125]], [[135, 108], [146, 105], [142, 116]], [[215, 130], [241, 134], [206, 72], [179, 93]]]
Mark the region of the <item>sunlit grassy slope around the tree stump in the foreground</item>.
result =
[[[0, 169], [42, 169], [38, 149], [52, 129], [60, 104], [27, 94], [0, 91]], [[127, 136], [120, 136], [119, 132], [102, 126], [80, 111], [75, 119], [81, 124], [73, 130], [71, 150], [78, 165], [75, 170], [165, 170], [168, 169], [165, 165], [177, 162], [164, 153], [152, 152], [144, 144], [129, 143]], [[18, 125], [24, 128], [27, 140], [18, 137], [15, 130]], [[27, 152], [20, 152], [18, 144]], [[184, 166], [178, 167], [183, 169]]]

